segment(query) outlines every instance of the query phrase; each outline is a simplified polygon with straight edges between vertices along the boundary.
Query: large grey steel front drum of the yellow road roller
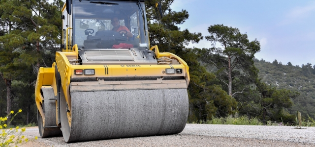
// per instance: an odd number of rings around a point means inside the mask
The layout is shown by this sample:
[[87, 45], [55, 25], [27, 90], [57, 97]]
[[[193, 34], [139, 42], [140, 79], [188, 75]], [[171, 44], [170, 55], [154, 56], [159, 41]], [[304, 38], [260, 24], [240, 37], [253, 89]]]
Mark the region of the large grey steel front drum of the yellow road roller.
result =
[[180, 133], [188, 117], [187, 89], [71, 92], [71, 128], [61, 95], [65, 142]]

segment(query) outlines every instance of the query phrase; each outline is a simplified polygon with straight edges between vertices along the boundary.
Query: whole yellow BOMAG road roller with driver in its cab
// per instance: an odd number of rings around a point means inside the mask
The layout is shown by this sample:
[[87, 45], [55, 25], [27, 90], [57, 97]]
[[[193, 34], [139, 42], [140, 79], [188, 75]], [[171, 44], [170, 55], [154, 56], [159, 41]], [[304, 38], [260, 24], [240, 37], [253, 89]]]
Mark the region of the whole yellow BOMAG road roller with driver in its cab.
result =
[[66, 0], [61, 19], [61, 51], [36, 80], [40, 137], [71, 143], [184, 129], [189, 67], [150, 45], [144, 0]]

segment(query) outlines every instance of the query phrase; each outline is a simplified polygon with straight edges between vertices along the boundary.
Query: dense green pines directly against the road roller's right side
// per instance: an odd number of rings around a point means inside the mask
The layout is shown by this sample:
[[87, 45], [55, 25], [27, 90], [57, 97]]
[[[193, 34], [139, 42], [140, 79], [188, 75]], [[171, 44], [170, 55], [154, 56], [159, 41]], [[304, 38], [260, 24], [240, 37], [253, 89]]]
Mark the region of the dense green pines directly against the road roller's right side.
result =
[[203, 39], [201, 33], [191, 33], [188, 29], [180, 30], [177, 26], [188, 19], [186, 10], [172, 11], [173, 0], [161, 1], [164, 17], [158, 20], [152, 7], [158, 0], [146, 1], [147, 20], [151, 46], [158, 45], [160, 51], [174, 53], [181, 57], [189, 66], [189, 122], [205, 121], [211, 116], [226, 116], [235, 112], [237, 102], [214, 85], [215, 75], [200, 65], [199, 49], [187, 49], [185, 45], [198, 43]]

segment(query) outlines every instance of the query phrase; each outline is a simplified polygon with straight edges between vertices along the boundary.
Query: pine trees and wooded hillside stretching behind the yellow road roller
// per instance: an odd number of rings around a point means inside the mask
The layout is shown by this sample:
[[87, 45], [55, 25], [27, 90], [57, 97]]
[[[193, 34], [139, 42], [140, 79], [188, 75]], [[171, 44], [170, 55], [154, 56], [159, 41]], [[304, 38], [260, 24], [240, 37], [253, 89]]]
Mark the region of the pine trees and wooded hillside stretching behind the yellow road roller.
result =
[[[161, 0], [159, 19], [155, 2], [146, 1], [151, 46], [171, 52], [189, 66], [189, 119], [202, 122], [214, 117], [246, 115], [267, 121], [292, 123], [296, 111], [315, 117], [314, 77], [311, 64], [302, 67], [255, 59], [257, 40], [226, 25], [210, 25], [209, 36], [181, 29], [189, 18], [186, 10], [173, 11], [174, 0]], [[22, 109], [12, 122], [37, 123], [34, 98], [40, 67], [51, 67], [61, 51], [62, 0], [0, 1], [0, 115]], [[206, 39], [213, 47], [187, 48]], [[220, 44], [218, 48], [215, 44]]]

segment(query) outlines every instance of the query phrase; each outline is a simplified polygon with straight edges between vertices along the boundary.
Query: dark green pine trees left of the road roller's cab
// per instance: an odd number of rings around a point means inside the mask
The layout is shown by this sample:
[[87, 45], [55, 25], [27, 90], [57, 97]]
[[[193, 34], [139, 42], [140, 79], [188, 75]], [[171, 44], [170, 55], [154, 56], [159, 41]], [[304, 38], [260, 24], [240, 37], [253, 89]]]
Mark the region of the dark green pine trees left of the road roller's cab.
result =
[[34, 120], [34, 83], [39, 67], [55, 60], [61, 43], [62, 7], [62, 0], [52, 4], [46, 0], [0, 1], [0, 84], [6, 86], [0, 88], [7, 91], [0, 95], [0, 113], [11, 105], [26, 110], [12, 123]]

